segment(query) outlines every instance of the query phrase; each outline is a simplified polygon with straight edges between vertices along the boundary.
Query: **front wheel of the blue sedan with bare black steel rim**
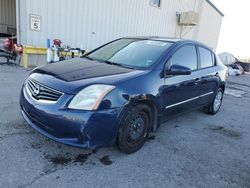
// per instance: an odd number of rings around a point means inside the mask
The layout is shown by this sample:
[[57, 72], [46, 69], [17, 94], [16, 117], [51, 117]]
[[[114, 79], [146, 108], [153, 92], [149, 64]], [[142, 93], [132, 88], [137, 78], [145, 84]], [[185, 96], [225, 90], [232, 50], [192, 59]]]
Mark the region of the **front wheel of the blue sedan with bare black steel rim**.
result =
[[138, 104], [122, 118], [117, 146], [120, 151], [130, 154], [138, 151], [147, 140], [153, 115], [150, 107]]

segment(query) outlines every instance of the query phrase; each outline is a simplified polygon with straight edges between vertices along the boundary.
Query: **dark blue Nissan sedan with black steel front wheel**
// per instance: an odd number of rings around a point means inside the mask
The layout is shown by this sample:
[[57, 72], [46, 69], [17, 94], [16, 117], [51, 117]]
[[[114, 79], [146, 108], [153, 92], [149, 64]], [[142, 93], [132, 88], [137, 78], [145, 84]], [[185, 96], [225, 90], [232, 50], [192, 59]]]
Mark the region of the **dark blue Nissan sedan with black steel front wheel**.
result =
[[204, 44], [121, 38], [82, 58], [34, 69], [22, 87], [21, 113], [60, 143], [133, 153], [179, 113], [216, 114], [226, 78], [226, 67]]

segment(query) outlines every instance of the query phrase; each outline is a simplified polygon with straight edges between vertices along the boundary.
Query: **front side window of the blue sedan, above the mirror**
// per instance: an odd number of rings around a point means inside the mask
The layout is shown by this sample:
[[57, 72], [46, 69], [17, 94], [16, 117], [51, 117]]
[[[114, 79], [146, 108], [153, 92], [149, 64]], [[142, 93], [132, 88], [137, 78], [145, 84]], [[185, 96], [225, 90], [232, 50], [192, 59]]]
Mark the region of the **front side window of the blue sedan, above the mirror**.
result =
[[178, 49], [171, 59], [167, 62], [167, 67], [171, 65], [181, 65], [190, 68], [191, 70], [197, 70], [197, 53], [195, 46], [186, 45]]

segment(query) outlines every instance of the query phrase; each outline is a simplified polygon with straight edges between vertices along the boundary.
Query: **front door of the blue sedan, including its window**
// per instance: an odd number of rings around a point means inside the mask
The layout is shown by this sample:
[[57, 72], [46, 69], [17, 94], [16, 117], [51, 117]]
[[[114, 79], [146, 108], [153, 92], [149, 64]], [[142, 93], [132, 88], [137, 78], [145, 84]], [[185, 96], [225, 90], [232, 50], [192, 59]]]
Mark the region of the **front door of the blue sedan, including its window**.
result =
[[191, 75], [165, 76], [165, 83], [161, 88], [164, 119], [198, 106], [199, 76], [195, 45], [180, 47], [167, 61], [165, 69], [169, 69], [171, 65], [188, 67], [192, 70], [192, 73]]

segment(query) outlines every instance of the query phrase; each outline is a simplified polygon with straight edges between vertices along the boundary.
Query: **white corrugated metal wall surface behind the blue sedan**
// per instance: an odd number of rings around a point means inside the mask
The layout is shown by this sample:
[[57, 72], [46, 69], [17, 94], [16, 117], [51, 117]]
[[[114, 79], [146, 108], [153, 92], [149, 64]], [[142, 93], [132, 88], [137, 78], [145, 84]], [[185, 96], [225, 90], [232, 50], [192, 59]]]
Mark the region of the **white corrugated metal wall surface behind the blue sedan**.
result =
[[[150, 0], [22, 0], [20, 1], [21, 42], [46, 47], [46, 39], [59, 38], [72, 47], [90, 50], [110, 40], [124, 36], [178, 37], [176, 12], [198, 9], [204, 0], [162, 0], [161, 7], [150, 5]], [[212, 8], [210, 8], [212, 9]], [[210, 11], [205, 8], [205, 11]], [[214, 12], [212, 12], [214, 14]], [[41, 31], [31, 31], [29, 15], [42, 18]], [[217, 13], [216, 13], [217, 14]], [[186, 29], [185, 38], [204, 39], [198, 31], [211, 29], [207, 20], [200, 26]], [[211, 21], [210, 21], [211, 22]], [[204, 27], [205, 29], [200, 29]], [[219, 26], [220, 27], [220, 26]]]

